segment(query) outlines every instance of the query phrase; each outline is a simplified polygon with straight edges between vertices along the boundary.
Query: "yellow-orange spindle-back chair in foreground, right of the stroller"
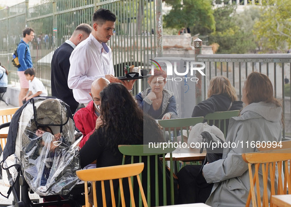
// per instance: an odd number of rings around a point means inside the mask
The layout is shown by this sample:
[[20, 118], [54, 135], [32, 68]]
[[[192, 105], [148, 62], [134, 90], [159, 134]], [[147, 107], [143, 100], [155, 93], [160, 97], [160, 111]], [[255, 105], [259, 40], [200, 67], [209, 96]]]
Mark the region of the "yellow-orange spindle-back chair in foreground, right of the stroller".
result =
[[[112, 181], [113, 179], [119, 179], [121, 204], [122, 204], [122, 207], [125, 207], [125, 198], [124, 198], [122, 178], [126, 178], [126, 177], [128, 178], [128, 181], [129, 181], [129, 192], [130, 192], [131, 206], [135, 207], [134, 197], [133, 197], [133, 189], [132, 189], [132, 183], [131, 183], [131, 176], [136, 176], [139, 190], [140, 190], [140, 194], [141, 194], [142, 201], [143, 201], [143, 205], [144, 205], [144, 207], [148, 207], [147, 201], [145, 198], [145, 194], [143, 192], [143, 188], [141, 185], [140, 177], [139, 177], [139, 173], [142, 172], [143, 168], [144, 168], [143, 163], [135, 163], [135, 164], [129, 164], [129, 165], [119, 165], [119, 166], [111, 166], [111, 167], [95, 168], [95, 169], [77, 171], [76, 174], [80, 178], [80, 180], [85, 181], [86, 207], [90, 206], [89, 201], [88, 201], [88, 186], [87, 186], [88, 181], [93, 182], [92, 189], [93, 189], [93, 200], [94, 200], [95, 207], [97, 207], [96, 181], [101, 181], [103, 207], [106, 207], [106, 196], [109, 196], [109, 195], [105, 196], [104, 180], [109, 180], [109, 182], [110, 182], [112, 206], [116, 207], [115, 195], [114, 195], [114, 189], [113, 189], [113, 181]], [[98, 193], [101, 193], [101, 192], [98, 192]]]

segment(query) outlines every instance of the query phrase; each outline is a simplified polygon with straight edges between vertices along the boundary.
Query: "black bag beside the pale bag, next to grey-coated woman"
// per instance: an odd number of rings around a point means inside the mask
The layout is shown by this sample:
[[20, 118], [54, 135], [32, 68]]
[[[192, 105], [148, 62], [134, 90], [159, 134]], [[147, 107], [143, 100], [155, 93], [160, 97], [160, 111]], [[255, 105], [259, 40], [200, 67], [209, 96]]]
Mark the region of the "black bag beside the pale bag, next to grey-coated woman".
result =
[[[212, 163], [214, 161], [222, 159], [222, 154], [223, 154], [222, 144], [224, 143], [224, 140], [222, 140], [221, 138], [217, 136], [216, 137], [219, 139], [219, 141], [215, 140], [214, 138], [212, 138], [209, 132], [202, 132], [201, 136], [202, 136], [202, 142], [207, 143], [205, 144], [207, 162]], [[214, 142], [216, 143], [221, 142], [222, 144], [213, 145]], [[218, 146], [218, 147], [212, 148], [212, 146]], [[202, 153], [203, 149], [204, 149], [204, 144], [202, 144], [200, 153]]]

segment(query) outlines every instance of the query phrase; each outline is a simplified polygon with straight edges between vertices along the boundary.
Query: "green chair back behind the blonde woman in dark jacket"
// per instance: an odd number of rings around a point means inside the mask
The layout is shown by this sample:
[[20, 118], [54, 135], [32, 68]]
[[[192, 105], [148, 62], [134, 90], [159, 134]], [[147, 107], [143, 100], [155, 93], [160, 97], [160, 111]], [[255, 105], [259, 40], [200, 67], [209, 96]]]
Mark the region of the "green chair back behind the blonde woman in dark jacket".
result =
[[207, 121], [208, 125], [215, 125], [217, 126], [223, 133], [226, 138], [228, 121], [230, 117], [238, 116], [239, 110], [233, 111], [216, 111], [214, 113], [209, 113], [204, 117], [204, 120]]

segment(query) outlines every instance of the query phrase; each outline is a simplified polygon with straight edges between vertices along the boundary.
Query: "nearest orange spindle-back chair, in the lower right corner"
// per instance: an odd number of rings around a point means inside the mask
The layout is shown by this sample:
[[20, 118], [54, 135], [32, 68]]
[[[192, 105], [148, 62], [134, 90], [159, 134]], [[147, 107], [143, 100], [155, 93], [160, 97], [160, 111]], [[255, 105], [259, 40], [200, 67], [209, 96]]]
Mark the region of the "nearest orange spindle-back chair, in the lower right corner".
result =
[[[269, 150], [242, 154], [242, 158], [249, 166], [251, 191], [246, 203], [246, 207], [250, 206], [251, 200], [253, 207], [272, 207], [269, 204], [268, 197], [272, 195], [287, 194], [288, 186], [291, 186], [291, 171], [288, 164], [291, 160], [291, 149]], [[285, 165], [284, 165], [285, 164]], [[255, 173], [253, 175], [252, 165], [255, 165]], [[261, 168], [261, 172], [259, 171]], [[276, 168], [278, 168], [278, 179], [276, 180]], [[259, 183], [259, 174], [262, 173], [262, 183]], [[282, 179], [284, 174], [284, 181]], [[263, 185], [263, 192], [260, 192], [260, 185]], [[271, 194], [268, 195], [267, 186], [271, 186]], [[276, 191], [276, 186], [277, 191]], [[255, 189], [256, 188], [256, 189]], [[262, 193], [262, 201], [261, 201]], [[288, 190], [291, 194], [291, 191]], [[272, 199], [272, 198], [271, 198]]]

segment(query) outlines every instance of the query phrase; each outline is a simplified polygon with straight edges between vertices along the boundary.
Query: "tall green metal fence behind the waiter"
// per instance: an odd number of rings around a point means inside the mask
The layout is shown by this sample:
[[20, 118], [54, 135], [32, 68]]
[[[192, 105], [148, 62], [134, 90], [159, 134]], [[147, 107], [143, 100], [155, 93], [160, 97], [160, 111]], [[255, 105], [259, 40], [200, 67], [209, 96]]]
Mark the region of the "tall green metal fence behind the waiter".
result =
[[[160, 9], [161, 2], [157, 1]], [[156, 28], [161, 29], [162, 12], [156, 10], [153, 0], [53, 0], [30, 8], [28, 5], [29, 0], [26, 0], [0, 10], [0, 61], [10, 72], [10, 84], [19, 84], [17, 68], [11, 65], [11, 54], [22, 39], [23, 29], [31, 27], [35, 32], [35, 38], [29, 43], [35, 76], [51, 94], [50, 64], [54, 50], [79, 24], [91, 25], [92, 15], [98, 8], [108, 8], [117, 16], [115, 34], [108, 42], [113, 51], [115, 76], [124, 75], [124, 65], [147, 68], [148, 60], [162, 51], [159, 43], [162, 35], [156, 35]], [[136, 82], [133, 93], [145, 84], [143, 80]]]

